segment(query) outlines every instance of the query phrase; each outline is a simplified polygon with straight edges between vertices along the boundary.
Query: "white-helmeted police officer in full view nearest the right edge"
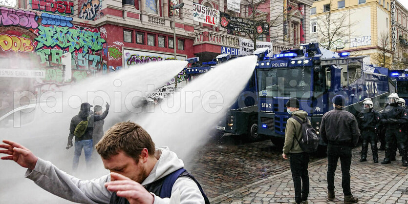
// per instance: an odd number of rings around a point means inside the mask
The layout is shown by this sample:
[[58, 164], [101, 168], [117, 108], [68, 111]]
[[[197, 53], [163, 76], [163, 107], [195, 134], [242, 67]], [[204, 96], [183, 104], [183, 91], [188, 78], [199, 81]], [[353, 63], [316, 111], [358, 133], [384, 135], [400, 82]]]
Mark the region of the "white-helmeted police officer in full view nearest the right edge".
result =
[[402, 157], [402, 165], [408, 166], [407, 136], [402, 132], [401, 125], [408, 122], [407, 111], [398, 105], [398, 94], [392, 93], [387, 98], [388, 104], [381, 114], [381, 122], [386, 124], [386, 158], [381, 164], [391, 163], [392, 143], [394, 140]]

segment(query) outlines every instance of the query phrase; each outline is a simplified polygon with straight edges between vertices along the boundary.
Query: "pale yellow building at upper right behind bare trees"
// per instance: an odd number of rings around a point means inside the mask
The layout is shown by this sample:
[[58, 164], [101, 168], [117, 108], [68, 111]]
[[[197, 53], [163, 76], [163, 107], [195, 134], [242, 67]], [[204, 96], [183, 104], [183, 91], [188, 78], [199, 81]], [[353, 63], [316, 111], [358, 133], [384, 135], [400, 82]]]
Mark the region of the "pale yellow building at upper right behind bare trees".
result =
[[311, 41], [390, 67], [390, 13], [391, 0], [317, 0], [311, 7]]

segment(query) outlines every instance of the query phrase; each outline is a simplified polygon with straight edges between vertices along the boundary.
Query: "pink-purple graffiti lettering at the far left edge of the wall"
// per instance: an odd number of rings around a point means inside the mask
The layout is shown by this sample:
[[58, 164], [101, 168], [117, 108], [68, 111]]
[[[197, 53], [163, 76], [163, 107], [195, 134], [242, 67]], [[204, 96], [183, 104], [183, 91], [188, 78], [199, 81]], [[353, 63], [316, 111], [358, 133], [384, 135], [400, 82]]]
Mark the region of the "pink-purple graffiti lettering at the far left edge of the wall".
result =
[[37, 28], [38, 16], [31, 11], [0, 7], [0, 25], [19, 25], [26, 28]]

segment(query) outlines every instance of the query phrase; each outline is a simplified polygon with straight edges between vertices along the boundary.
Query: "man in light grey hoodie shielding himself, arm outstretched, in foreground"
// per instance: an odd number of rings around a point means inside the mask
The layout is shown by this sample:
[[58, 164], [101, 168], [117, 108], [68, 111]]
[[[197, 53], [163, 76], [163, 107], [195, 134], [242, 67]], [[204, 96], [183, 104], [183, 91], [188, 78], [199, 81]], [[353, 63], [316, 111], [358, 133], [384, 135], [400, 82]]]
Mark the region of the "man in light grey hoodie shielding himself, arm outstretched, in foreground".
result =
[[207, 196], [169, 148], [155, 148], [149, 133], [133, 122], [109, 128], [96, 145], [111, 173], [82, 181], [36, 157], [18, 143], [3, 141], [2, 160], [28, 168], [25, 176], [46, 191], [83, 204], [208, 204]]

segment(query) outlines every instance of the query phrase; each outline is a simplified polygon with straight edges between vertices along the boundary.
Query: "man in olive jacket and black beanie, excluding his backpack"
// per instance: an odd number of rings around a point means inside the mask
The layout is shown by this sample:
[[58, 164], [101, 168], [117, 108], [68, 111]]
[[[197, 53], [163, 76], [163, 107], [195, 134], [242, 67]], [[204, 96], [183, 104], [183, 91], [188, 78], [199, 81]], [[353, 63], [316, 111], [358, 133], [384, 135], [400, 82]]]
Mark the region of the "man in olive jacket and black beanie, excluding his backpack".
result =
[[309, 154], [303, 152], [299, 144], [302, 137], [302, 125], [293, 118], [297, 117], [304, 121], [307, 113], [299, 110], [299, 100], [296, 98], [290, 98], [286, 102], [286, 107], [287, 112], [292, 117], [286, 122], [282, 157], [287, 160], [287, 155], [290, 153], [290, 170], [292, 171], [293, 185], [295, 187], [295, 202], [293, 204], [308, 204], [309, 174], [307, 168], [309, 166]]

